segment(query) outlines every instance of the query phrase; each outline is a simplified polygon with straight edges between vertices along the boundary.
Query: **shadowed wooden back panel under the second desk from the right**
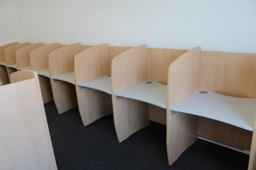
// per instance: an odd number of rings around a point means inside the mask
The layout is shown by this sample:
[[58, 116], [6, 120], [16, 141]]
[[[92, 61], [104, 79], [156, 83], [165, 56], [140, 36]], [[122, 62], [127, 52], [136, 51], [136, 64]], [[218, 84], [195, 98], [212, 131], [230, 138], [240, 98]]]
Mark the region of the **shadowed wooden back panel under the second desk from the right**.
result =
[[150, 120], [166, 125], [166, 109], [148, 104], [148, 111], [150, 113]]

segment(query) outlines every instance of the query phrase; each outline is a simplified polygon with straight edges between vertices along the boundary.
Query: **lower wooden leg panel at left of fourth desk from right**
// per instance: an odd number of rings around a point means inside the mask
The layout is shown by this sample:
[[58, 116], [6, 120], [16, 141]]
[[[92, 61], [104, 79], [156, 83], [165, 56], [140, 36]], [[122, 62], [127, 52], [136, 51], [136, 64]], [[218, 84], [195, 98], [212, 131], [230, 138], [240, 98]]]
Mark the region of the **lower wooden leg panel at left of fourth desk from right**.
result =
[[76, 88], [74, 84], [51, 79], [53, 98], [59, 114], [77, 107]]

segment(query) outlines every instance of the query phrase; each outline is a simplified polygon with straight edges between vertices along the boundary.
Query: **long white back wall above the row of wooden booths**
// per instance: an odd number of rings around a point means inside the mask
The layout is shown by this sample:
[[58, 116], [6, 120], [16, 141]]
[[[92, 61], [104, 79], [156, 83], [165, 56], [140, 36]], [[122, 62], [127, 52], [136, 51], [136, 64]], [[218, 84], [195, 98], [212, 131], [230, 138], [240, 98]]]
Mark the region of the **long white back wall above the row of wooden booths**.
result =
[[14, 0], [23, 41], [256, 53], [255, 0]]

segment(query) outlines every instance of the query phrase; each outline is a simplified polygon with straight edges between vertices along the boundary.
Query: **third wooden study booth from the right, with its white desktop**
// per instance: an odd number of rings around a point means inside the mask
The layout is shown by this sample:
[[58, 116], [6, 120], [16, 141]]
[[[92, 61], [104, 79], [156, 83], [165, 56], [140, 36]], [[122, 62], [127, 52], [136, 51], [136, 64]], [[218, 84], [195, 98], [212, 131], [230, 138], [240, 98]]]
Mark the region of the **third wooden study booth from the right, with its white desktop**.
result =
[[113, 113], [111, 61], [130, 48], [104, 43], [75, 56], [75, 87], [84, 126]]

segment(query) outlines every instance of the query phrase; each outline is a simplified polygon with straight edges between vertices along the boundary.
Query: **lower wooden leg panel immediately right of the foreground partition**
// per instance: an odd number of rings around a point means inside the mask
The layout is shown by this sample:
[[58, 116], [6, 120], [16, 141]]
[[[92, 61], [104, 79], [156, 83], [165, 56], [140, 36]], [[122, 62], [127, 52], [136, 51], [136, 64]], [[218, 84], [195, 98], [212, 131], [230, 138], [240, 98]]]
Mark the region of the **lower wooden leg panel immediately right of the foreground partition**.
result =
[[51, 82], [50, 82], [50, 79], [45, 76], [38, 75], [38, 79], [40, 82], [42, 101], [44, 102], [44, 104], [46, 104], [53, 100]]

